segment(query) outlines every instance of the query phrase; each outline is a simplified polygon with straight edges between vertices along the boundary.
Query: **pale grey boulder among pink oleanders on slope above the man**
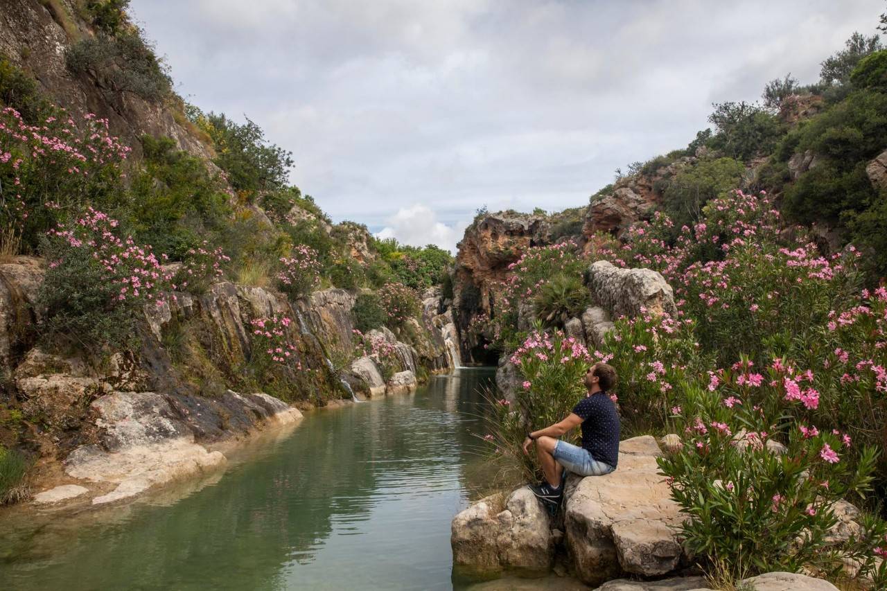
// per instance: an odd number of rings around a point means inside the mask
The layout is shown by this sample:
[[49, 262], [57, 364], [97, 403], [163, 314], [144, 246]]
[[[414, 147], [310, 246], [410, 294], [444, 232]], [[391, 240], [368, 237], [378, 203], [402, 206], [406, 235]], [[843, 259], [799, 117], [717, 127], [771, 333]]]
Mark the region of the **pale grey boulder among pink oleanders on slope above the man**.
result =
[[601, 306], [616, 317], [635, 317], [641, 310], [677, 313], [671, 286], [652, 269], [620, 269], [598, 261], [588, 268], [588, 285]]

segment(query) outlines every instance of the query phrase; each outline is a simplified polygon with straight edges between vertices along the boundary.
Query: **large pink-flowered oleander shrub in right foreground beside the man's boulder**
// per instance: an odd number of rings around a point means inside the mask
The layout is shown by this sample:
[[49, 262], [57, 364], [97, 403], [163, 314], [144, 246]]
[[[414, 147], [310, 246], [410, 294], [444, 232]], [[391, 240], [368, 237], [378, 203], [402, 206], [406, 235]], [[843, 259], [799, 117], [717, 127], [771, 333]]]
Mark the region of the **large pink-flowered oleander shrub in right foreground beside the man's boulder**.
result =
[[[681, 528], [688, 550], [735, 579], [822, 564], [834, 503], [870, 485], [873, 448], [851, 468], [840, 432], [783, 420], [786, 407], [804, 406], [782, 390], [793, 377], [784, 367], [752, 373], [741, 362], [721, 375], [717, 393], [688, 388], [683, 447], [658, 460], [689, 516]], [[772, 441], [785, 453], [774, 453]]]

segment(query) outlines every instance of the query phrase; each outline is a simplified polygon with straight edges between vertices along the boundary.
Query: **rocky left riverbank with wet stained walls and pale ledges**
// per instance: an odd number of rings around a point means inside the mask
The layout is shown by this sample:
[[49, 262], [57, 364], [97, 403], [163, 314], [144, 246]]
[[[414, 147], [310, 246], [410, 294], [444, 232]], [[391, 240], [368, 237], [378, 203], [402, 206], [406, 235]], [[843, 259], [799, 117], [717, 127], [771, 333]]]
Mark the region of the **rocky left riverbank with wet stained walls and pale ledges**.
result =
[[[393, 361], [355, 358], [351, 292], [326, 289], [291, 303], [271, 289], [229, 282], [146, 307], [139, 351], [48, 348], [36, 344], [43, 269], [33, 257], [0, 264], [0, 364], [12, 400], [0, 418], [9, 427], [3, 436], [16, 439], [2, 443], [35, 457], [29, 481], [41, 504], [129, 499], [216, 469], [225, 458], [215, 446], [297, 423], [300, 408], [411, 392], [423, 375], [459, 365], [451, 311], [435, 290], [425, 294], [411, 343], [387, 328], [368, 335], [396, 351]], [[286, 338], [302, 368], [286, 368], [276, 384], [291, 403], [242, 390], [253, 322], [275, 316], [290, 319]]]

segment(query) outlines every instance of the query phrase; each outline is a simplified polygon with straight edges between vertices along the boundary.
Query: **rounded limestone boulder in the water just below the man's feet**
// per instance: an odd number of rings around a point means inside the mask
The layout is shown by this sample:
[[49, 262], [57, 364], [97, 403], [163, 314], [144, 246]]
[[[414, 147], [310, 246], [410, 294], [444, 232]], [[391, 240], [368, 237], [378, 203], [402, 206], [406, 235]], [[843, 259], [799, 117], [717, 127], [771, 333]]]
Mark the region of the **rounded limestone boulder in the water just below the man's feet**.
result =
[[475, 574], [509, 569], [547, 572], [554, 558], [551, 525], [548, 513], [529, 488], [511, 493], [505, 508], [498, 512], [495, 499], [487, 497], [453, 519], [453, 564]]

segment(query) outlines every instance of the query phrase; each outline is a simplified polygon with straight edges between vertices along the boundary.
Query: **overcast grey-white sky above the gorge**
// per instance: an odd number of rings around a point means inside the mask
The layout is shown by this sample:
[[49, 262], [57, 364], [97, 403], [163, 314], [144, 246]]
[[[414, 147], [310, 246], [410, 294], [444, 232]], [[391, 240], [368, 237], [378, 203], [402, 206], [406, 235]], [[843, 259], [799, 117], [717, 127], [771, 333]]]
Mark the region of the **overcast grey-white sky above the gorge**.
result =
[[453, 248], [475, 210], [585, 205], [712, 102], [819, 63], [882, 0], [132, 0], [177, 91], [293, 151], [336, 221]]

